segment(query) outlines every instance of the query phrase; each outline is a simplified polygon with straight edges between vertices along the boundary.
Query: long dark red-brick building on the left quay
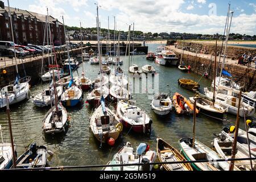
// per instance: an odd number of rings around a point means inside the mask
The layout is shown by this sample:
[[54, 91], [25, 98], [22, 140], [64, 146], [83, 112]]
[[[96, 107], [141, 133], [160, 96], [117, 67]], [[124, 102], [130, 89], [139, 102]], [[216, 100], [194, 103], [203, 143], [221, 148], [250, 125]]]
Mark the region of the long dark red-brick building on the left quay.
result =
[[[10, 11], [13, 20], [14, 42], [22, 45], [43, 45], [46, 15], [13, 7], [10, 7]], [[49, 26], [55, 45], [64, 44], [63, 24], [49, 16]], [[2, 1], [0, 1], [0, 40], [13, 41], [11, 38], [9, 9]], [[45, 38], [45, 41], [47, 42], [47, 38]]]

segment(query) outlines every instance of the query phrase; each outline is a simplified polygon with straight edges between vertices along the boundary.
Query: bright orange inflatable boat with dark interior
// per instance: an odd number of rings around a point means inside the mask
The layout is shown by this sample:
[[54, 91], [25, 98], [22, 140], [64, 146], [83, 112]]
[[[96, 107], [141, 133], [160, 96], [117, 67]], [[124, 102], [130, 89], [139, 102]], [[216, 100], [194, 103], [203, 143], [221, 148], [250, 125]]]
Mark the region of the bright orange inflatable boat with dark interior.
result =
[[[191, 101], [187, 100], [187, 98], [183, 97], [179, 93], [175, 93], [174, 97], [172, 97], [172, 104], [174, 104], [174, 108], [177, 114], [192, 114], [193, 113], [193, 104]], [[196, 109], [196, 114], [199, 113], [199, 110]]]

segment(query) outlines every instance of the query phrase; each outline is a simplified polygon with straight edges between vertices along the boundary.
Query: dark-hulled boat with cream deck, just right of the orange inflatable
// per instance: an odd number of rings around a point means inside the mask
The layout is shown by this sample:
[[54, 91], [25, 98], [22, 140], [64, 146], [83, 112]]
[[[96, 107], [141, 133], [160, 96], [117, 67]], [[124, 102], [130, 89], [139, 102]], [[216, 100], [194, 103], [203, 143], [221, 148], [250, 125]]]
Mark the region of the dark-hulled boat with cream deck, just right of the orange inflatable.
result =
[[[189, 100], [194, 103], [194, 98], [189, 97]], [[200, 113], [207, 115], [208, 117], [217, 119], [219, 121], [224, 121], [226, 119], [226, 108], [217, 105], [216, 103], [213, 106], [213, 102], [209, 101], [203, 97], [199, 97], [196, 100], [196, 107], [199, 108]]]

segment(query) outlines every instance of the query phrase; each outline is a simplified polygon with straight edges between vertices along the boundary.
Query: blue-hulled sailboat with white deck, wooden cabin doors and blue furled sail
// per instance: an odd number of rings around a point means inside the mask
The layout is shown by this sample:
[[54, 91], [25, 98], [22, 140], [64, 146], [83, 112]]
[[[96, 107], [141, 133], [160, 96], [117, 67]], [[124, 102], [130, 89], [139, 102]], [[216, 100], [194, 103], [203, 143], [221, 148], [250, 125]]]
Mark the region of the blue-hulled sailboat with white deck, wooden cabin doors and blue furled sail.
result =
[[64, 106], [75, 106], [82, 101], [82, 90], [71, 80], [68, 89], [63, 92], [60, 100]]

